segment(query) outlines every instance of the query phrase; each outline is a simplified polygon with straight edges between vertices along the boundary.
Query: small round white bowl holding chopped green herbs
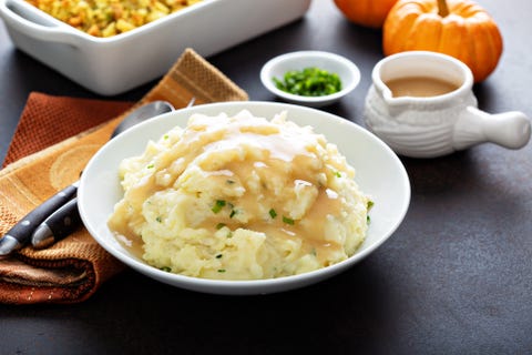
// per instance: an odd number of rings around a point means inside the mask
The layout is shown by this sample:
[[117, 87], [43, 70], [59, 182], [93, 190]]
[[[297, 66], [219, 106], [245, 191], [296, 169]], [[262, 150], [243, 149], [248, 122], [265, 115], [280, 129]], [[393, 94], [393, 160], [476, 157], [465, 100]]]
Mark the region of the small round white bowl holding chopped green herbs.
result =
[[[317, 67], [340, 77], [342, 89], [325, 97], [303, 97], [277, 89], [273, 78], [283, 79], [290, 70], [303, 70]], [[260, 81], [272, 93], [286, 102], [298, 103], [310, 108], [320, 108], [337, 102], [360, 82], [360, 70], [345, 57], [323, 51], [298, 51], [270, 59], [260, 70]]]

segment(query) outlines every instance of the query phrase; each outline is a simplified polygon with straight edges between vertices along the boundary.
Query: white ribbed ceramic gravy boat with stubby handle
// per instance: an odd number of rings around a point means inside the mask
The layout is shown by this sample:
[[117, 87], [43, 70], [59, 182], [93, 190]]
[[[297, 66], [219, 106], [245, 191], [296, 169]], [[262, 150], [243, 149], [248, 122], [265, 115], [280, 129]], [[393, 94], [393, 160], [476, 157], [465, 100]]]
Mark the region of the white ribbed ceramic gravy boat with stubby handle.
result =
[[[411, 77], [444, 80], [458, 89], [429, 98], [393, 98], [385, 82]], [[520, 149], [530, 140], [531, 124], [524, 113], [490, 114], [477, 108], [471, 70], [452, 57], [401, 52], [379, 61], [371, 79], [366, 124], [398, 154], [434, 158], [484, 142]]]

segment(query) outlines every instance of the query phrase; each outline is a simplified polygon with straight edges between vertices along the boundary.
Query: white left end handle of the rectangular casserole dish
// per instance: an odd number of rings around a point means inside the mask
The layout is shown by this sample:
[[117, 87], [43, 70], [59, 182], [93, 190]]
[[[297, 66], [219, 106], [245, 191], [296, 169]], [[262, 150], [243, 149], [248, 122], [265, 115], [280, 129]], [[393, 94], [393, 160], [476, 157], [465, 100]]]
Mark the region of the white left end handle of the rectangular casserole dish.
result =
[[72, 45], [79, 42], [81, 34], [78, 30], [41, 12], [23, 1], [0, 0], [0, 16], [8, 28], [41, 41]]

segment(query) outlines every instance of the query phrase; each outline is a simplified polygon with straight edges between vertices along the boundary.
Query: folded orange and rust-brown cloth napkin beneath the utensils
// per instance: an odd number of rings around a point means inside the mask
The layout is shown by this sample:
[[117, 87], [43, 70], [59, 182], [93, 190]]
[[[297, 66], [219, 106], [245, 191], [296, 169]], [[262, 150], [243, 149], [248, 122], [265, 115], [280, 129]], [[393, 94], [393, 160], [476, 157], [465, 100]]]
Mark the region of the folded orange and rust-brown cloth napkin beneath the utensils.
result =
[[[0, 235], [76, 181], [130, 110], [155, 100], [183, 108], [192, 98], [195, 105], [248, 99], [192, 49], [137, 103], [31, 93], [0, 171]], [[27, 246], [0, 260], [0, 303], [82, 302], [123, 268], [80, 227], [49, 248]]]

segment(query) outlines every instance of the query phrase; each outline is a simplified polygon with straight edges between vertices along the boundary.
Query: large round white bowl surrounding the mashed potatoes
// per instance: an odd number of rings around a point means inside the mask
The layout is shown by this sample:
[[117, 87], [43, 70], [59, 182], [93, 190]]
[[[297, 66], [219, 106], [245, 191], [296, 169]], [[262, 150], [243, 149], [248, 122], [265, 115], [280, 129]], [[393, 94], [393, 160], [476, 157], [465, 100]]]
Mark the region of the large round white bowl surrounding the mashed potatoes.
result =
[[[355, 255], [338, 264], [306, 274], [258, 281], [204, 280], [167, 273], [147, 265], [122, 246], [106, 221], [122, 197], [117, 166], [126, 156], [141, 154], [149, 140], [156, 140], [175, 125], [184, 126], [194, 112], [235, 114], [246, 109], [254, 115], [272, 119], [287, 111], [288, 119], [311, 125], [336, 143], [356, 169], [360, 189], [375, 200], [367, 239]], [[392, 179], [390, 179], [392, 176]], [[410, 202], [410, 183], [397, 155], [376, 135], [361, 126], [319, 110], [275, 102], [227, 102], [174, 111], [143, 122], [106, 143], [83, 171], [78, 192], [80, 213], [89, 232], [112, 255], [134, 270], [182, 288], [214, 294], [265, 294], [301, 287], [338, 274], [368, 256], [399, 226]]]

